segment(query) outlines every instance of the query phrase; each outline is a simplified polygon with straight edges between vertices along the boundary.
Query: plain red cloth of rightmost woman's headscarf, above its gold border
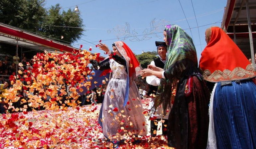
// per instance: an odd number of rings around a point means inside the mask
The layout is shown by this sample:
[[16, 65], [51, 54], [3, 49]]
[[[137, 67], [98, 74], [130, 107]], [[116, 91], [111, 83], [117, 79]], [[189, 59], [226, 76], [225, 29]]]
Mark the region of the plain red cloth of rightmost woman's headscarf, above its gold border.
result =
[[211, 28], [211, 39], [201, 53], [199, 62], [203, 71], [233, 71], [236, 67], [245, 70], [249, 64], [243, 52], [221, 28]]

